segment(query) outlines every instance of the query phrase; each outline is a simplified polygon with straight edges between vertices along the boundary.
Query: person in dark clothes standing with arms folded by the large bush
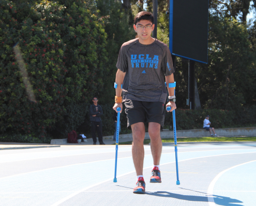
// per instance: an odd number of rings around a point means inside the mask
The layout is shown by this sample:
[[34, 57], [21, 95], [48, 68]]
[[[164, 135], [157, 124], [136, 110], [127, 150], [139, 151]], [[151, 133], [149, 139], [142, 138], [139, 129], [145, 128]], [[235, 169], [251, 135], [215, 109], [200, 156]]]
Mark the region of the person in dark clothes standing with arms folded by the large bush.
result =
[[103, 110], [98, 105], [98, 98], [93, 98], [93, 105], [90, 106], [90, 121], [92, 126], [92, 137], [93, 137], [93, 144], [96, 145], [96, 130], [98, 133], [98, 139], [100, 145], [104, 145], [102, 140], [102, 122], [100, 116], [103, 114]]

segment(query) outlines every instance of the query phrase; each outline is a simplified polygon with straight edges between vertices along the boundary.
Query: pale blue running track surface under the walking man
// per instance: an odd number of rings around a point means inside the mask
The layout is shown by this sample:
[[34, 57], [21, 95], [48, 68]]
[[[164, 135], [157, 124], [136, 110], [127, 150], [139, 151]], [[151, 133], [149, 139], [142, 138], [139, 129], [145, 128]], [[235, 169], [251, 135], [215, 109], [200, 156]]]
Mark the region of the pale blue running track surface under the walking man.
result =
[[162, 183], [149, 183], [153, 160], [145, 145], [146, 194], [136, 183], [131, 146], [69, 146], [0, 151], [0, 205], [256, 205], [256, 143], [163, 146]]

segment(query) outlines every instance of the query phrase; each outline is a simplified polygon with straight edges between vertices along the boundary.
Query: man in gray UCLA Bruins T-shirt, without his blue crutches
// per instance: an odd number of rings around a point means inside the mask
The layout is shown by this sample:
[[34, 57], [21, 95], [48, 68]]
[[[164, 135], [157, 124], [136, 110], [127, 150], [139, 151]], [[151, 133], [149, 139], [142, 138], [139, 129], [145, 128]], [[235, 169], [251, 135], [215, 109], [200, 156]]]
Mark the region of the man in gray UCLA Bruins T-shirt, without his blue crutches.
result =
[[[132, 130], [132, 158], [137, 173], [137, 184], [133, 193], [145, 193], [143, 161], [145, 124], [148, 124], [150, 147], [153, 156], [153, 169], [149, 182], [161, 183], [160, 157], [162, 141], [160, 129], [164, 123], [164, 103], [167, 97], [167, 85], [174, 82], [174, 68], [168, 46], [150, 35], [154, 30], [154, 17], [150, 12], [142, 11], [134, 18], [133, 28], [138, 39], [124, 43], [117, 60], [115, 83], [116, 97], [113, 109], [123, 109], [128, 119], [128, 129]], [[123, 84], [123, 90], [121, 89]], [[123, 91], [123, 96], [122, 96]], [[174, 88], [169, 88], [169, 112], [176, 109]]]

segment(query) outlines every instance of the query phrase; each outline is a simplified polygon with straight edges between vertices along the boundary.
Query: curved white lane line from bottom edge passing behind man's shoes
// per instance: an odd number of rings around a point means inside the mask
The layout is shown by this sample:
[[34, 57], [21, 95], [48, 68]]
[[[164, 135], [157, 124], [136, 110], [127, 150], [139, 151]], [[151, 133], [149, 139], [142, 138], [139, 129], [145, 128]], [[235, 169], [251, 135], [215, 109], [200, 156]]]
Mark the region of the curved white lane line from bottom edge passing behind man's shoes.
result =
[[[244, 152], [244, 153], [255, 153], [255, 152], [256, 152], [256, 151], [253, 151], [253, 152]], [[172, 153], [173, 153], [173, 152], [172, 152]], [[223, 155], [240, 155], [240, 154], [244, 154], [244, 153], [233, 153], [233, 154], [223, 154]], [[206, 158], [206, 157], [217, 157], [217, 156], [223, 156], [223, 155], [213, 155], [213, 156], [205, 156], [205, 157], [190, 158], [190, 159], [186, 159], [186, 160], [180, 160], [180, 161], [178, 161], [178, 162], [183, 162], [183, 161], [188, 161], [188, 160], [193, 160], [193, 159], [199, 159], [199, 158]], [[164, 164], [161, 164], [161, 165], [171, 164], [171, 163], [175, 163], [175, 161], [174, 161], [174, 162], [164, 163]], [[147, 168], [152, 168], [152, 166], [144, 167], [143, 169], [147, 169]], [[131, 174], [131, 173], [135, 173], [135, 170], [130, 171], [129, 173], [126, 173], [126, 174], [123, 174], [123, 175], [118, 175], [116, 178], [123, 177], [123, 176], [129, 175], [129, 174]], [[55, 202], [55, 203], [52, 204], [51, 206], [57, 206], [57, 205], [59, 205], [59, 204], [65, 202], [66, 200], [70, 199], [71, 197], [76, 196], [76, 195], [78, 195], [79, 193], [84, 192], [85, 190], [88, 190], [89, 188], [92, 188], [92, 187], [94, 187], [94, 186], [97, 186], [97, 185], [99, 185], [99, 184], [102, 184], [102, 183], [105, 183], [105, 182], [108, 182], [108, 181], [111, 181], [111, 180], [113, 180], [113, 178], [110, 178], [110, 179], [108, 179], [108, 180], [104, 180], [104, 181], [98, 182], [98, 183], [96, 183], [96, 184], [94, 184], [94, 185], [91, 185], [91, 186], [87, 186], [87, 187], [85, 187], [85, 188], [82, 188], [81, 190], [79, 190], [79, 191], [77, 191], [77, 192], [75, 192], [75, 193], [73, 193], [73, 194], [70, 194], [69, 196], [67, 196], [67, 197], [65, 197], [65, 198], [63, 198], [63, 199], [61, 199], [61, 200]], [[209, 194], [209, 193], [208, 193], [208, 194]], [[213, 193], [210, 193], [210, 194], [213, 194]]]

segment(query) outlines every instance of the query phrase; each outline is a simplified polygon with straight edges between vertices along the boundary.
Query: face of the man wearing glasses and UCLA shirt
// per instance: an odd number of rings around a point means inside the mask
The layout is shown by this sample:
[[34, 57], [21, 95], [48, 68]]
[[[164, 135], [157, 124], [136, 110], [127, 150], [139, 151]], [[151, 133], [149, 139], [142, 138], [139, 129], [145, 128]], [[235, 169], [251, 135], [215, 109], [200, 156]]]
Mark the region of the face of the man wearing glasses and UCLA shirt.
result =
[[152, 24], [149, 20], [141, 20], [136, 25], [133, 25], [133, 28], [137, 31], [139, 38], [147, 40], [154, 30], [155, 24]]

